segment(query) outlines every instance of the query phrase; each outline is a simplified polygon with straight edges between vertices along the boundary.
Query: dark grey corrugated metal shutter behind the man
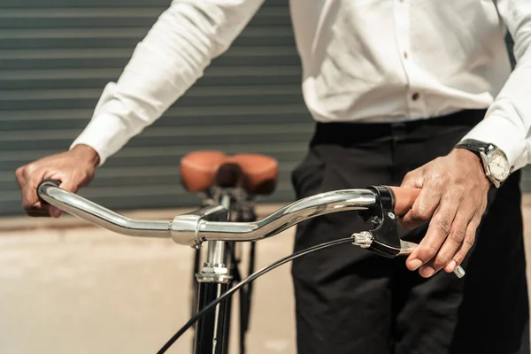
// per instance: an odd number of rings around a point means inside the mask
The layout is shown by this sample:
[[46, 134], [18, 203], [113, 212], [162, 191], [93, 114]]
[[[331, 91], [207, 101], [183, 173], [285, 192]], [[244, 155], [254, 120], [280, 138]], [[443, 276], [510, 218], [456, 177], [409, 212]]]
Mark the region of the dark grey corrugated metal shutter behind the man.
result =
[[[0, 3], [0, 214], [20, 212], [14, 170], [68, 148], [168, 0]], [[278, 158], [270, 201], [292, 198], [289, 173], [312, 132], [288, 2], [268, 0], [234, 46], [152, 127], [102, 167], [81, 195], [116, 209], [196, 205], [179, 160], [197, 149]]]

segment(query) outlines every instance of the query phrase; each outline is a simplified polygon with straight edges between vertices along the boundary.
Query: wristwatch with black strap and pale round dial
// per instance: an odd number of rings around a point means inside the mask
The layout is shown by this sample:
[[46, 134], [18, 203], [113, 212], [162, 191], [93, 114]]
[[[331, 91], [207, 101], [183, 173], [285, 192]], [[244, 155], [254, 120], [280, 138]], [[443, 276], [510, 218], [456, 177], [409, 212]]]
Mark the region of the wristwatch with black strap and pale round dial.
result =
[[499, 150], [496, 145], [489, 142], [465, 139], [458, 142], [456, 148], [470, 150], [478, 155], [483, 163], [485, 174], [496, 188], [499, 188], [509, 177], [512, 170], [509, 160], [504, 151]]

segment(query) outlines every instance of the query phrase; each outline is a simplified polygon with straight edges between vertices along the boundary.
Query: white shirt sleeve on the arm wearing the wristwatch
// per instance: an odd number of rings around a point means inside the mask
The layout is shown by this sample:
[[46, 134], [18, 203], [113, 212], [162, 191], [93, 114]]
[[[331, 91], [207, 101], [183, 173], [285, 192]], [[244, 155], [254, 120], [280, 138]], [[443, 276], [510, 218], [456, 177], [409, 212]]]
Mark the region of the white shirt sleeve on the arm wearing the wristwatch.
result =
[[495, 144], [517, 170], [531, 158], [531, 1], [494, 2], [512, 35], [517, 65], [485, 119], [465, 139]]

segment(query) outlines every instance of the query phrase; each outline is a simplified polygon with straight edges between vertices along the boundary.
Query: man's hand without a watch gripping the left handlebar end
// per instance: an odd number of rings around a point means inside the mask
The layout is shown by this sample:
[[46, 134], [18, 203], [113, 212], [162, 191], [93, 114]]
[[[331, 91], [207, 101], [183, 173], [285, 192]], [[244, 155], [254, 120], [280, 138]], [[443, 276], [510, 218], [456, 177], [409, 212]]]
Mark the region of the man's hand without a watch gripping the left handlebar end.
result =
[[53, 206], [42, 204], [37, 196], [37, 186], [42, 180], [61, 181], [61, 188], [76, 193], [88, 186], [96, 174], [99, 157], [96, 150], [87, 145], [76, 145], [68, 150], [23, 165], [15, 173], [22, 193], [22, 207], [34, 217], [58, 218], [63, 213]]

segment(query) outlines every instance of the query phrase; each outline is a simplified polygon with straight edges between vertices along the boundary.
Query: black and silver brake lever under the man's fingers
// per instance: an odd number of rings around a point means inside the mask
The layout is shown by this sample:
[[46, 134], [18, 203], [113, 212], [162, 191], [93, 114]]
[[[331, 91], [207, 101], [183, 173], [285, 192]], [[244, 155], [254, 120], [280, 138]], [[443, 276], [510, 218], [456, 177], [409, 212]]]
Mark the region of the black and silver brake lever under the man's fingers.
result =
[[[352, 235], [353, 244], [371, 250], [385, 258], [407, 256], [419, 246], [414, 242], [407, 242], [400, 238], [395, 213], [395, 196], [393, 191], [384, 186], [369, 186], [376, 196], [376, 203], [372, 208], [358, 212], [359, 216], [375, 228]], [[458, 278], [465, 276], [465, 270], [457, 266], [454, 272]]]

